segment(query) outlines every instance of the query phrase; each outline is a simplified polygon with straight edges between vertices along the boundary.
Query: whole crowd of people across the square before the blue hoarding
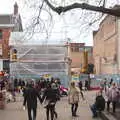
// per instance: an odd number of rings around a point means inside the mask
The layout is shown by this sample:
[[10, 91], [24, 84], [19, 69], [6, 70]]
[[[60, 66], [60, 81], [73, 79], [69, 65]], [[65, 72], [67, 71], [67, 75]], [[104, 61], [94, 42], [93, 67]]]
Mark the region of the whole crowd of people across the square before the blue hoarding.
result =
[[[46, 118], [47, 120], [54, 120], [58, 117], [56, 112], [56, 103], [61, 98], [60, 86], [61, 82], [59, 78], [51, 78], [34, 81], [24, 81], [21, 79], [14, 79], [13, 87], [9, 85], [7, 81], [1, 81], [1, 89], [5, 87], [8, 91], [11, 92], [14, 101], [16, 101], [15, 93], [23, 93], [23, 108], [28, 110], [29, 120], [35, 120], [37, 115], [37, 98], [40, 101], [40, 104], [46, 109]], [[67, 89], [68, 103], [71, 106], [71, 115], [77, 117], [77, 109], [79, 104], [79, 97], [85, 100], [84, 90], [88, 89], [88, 81], [85, 81], [85, 85], [82, 85], [82, 81], [79, 81], [77, 84], [75, 81], [71, 81], [69, 88]], [[120, 101], [120, 89], [116, 85], [113, 79], [108, 82], [106, 79], [101, 81], [100, 90], [96, 94], [95, 101], [90, 105], [90, 109], [93, 113], [93, 117], [97, 117], [98, 111], [103, 111], [106, 107], [109, 112], [110, 103], [112, 103], [112, 112], [116, 112], [116, 105]], [[33, 116], [31, 115], [33, 111]], [[51, 116], [51, 117], [50, 117]]]

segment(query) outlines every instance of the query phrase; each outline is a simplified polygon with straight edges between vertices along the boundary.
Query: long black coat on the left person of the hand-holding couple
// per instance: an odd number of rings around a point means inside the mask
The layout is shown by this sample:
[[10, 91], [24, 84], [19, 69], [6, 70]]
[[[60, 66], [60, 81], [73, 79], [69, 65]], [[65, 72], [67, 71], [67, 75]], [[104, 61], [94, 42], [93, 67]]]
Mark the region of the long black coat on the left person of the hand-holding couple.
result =
[[27, 108], [37, 108], [37, 98], [39, 98], [41, 102], [41, 97], [38, 91], [33, 87], [28, 87], [24, 91], [24, 102], [23, 105], [25, 106], [27, 103]]

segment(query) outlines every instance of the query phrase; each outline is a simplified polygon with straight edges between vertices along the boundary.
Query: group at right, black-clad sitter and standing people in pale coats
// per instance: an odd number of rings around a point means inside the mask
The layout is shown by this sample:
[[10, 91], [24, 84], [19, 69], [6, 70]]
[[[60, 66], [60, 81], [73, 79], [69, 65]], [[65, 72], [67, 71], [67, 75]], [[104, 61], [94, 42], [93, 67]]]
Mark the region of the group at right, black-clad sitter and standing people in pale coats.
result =
[[112, 103], [112, 113], [115, 113], [117, 104], [120, 104], [120, 88], [113, 79], [107, 81], [105, 78], [101, 81], [100, 91], [91, 106], [93, 117], [97, 117], [97, 111], [103, 111], [105, 107], [107, 112], [110, 112], [110, 103]]

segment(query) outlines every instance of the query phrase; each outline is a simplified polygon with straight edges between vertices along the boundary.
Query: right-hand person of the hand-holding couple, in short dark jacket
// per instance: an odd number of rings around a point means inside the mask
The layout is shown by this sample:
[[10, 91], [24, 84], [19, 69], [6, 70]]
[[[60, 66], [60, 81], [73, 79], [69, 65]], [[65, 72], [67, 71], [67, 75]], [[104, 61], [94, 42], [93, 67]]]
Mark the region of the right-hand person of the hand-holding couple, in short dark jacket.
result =
[[51, 120], [58, 117], [55, 111], [55, 105], [57, 100], [59, 100], [59, 97], [59, 90], [57, 90], [56, 84], [48, 84], [42, 97], [42, 102], [47, 101], [47, 104], [45, 105], [47, 120], [49, 120], [49, 113], [51, 113]]

